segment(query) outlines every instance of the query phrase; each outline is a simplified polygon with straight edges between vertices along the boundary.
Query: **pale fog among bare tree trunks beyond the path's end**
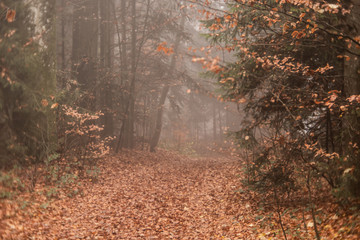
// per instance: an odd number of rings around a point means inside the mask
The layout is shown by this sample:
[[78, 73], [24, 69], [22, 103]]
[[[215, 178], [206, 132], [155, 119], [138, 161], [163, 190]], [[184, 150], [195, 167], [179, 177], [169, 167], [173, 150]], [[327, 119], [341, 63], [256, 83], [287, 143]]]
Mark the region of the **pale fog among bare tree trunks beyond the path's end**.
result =
[[201, 36], [206, 14], [199, 12], [217, 9], [224, 4], [57, 1], [58, 88], [103, 113], [104, 135], [115, 138], [117, 150], [223, 145], [241, 114], [206, 74], [206, 64], [231, 58]]

